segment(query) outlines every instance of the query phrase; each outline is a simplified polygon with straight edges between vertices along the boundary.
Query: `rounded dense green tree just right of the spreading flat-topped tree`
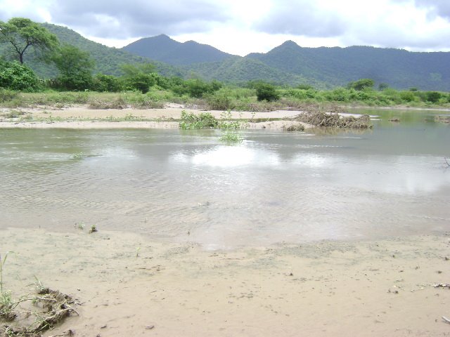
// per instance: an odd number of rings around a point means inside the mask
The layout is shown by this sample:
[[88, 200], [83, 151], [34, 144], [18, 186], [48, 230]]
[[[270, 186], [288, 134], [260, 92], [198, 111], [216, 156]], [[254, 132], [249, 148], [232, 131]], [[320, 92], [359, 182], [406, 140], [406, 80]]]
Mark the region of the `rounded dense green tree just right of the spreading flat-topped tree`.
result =
[[68, 90], [85, 90], [92, 85], [94, 60], [87, 51], [66, 44], [51, 56], [59, 70], [58, 84]]

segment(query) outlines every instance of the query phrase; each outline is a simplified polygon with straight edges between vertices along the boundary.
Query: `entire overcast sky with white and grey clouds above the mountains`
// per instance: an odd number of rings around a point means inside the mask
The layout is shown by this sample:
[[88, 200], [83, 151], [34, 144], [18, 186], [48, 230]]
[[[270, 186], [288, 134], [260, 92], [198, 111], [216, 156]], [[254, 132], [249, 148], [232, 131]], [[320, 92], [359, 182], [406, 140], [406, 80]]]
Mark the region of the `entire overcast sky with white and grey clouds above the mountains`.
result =
[[0, 0], [0, 20], [16, 16], [116, 47], [167, 34], [236, 55], [286, 40], [450, 51], [450, 0]]

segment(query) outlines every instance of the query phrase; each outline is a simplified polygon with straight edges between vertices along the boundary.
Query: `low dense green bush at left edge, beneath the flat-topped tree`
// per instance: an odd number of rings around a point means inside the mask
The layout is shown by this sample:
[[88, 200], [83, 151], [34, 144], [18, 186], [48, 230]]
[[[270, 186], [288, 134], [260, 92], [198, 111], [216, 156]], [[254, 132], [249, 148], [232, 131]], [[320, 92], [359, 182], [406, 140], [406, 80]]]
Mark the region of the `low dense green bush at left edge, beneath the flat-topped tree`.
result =
[[18, 91], [35, 91], [39, 80], [34, 72], [17, 61], [0, 60], [0, 88]]

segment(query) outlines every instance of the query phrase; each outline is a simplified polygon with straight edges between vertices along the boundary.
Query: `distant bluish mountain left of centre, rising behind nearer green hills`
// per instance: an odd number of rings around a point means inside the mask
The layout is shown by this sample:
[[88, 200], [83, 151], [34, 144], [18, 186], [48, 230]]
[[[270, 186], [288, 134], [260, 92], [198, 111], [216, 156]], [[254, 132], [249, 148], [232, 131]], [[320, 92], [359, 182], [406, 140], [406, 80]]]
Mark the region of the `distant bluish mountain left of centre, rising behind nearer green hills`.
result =
[[192, 65], [236, 57], [207, 44], [199, 44], [195, 41], [181, 43], [165, 34], [139, 39], [128, 46], [124, 46], [122, 50], [145, 58], [162, 61], [169, 65]]

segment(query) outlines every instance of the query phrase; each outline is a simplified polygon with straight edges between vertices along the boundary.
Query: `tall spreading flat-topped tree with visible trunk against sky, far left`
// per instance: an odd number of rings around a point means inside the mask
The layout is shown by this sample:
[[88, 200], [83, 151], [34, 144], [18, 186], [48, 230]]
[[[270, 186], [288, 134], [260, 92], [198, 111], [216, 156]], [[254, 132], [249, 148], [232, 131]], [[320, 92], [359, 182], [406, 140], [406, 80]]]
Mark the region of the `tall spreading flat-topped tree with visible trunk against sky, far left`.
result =
[[27, 18], [12, 18], [0, 21], [0, 42], [11, 44], [13, 53], [23, 64], [23, 55], [30, 47], [34, 51], [46, 53], [58, 46], [58, 39], [47, 29]]

